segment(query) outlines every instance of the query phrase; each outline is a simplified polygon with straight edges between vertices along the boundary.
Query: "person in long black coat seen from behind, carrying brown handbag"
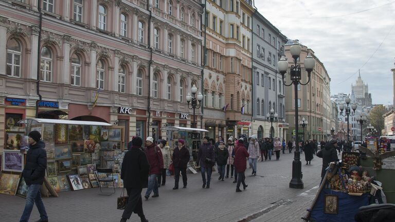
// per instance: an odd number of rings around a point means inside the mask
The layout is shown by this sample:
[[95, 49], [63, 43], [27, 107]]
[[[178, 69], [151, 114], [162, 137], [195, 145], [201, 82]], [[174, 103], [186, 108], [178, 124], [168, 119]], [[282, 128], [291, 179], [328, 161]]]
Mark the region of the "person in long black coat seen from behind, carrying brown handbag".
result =
[[132, 213], [136, 213], [141, 221], [148, 222], [142, 210], [141, 191], [148, 187], [148, 172], [150, 164], [146, 154], [141, 151], [142, 139], [135, 137], [128, 145], [128, 152], [125, 154], [122, 167], [121, 179], [123, 187], [128, 192], [129, 201], [122, 214], [121, 222], [130, 218]]

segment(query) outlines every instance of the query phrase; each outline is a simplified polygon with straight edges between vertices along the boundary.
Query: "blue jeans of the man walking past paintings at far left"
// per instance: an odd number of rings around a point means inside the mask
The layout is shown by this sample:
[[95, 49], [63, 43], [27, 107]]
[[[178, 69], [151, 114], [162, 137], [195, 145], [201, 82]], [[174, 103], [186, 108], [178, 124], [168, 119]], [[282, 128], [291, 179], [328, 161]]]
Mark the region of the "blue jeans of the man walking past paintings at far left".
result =
[[48, 215], [47, 212], [45, 211], [43, 199], [41, 199], [40, 188], [41, 188], [41, 184], [31, 184], [29, 186], [26, 195], [26, 205], [25, 205], [25, 209], [23, 210], [23, 214], [21, 216], [20, 222], [29, 221], [29, 217], [31, 211], [33, 210], [34, 203], [35, 206], [37, 206], [37, 209], [39, 210], [40, 219], [41, 220], [48, 219]]

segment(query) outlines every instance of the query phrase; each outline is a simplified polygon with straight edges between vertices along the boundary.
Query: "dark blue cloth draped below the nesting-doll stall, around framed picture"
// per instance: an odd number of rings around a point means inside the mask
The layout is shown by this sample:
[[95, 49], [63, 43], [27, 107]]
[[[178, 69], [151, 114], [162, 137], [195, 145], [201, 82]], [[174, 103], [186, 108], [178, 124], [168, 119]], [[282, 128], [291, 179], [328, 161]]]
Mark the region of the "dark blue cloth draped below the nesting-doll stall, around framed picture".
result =
[[[338, 197], [338, 213], [328, 214], [324, 212], [324, 196], [326, 194]], [[310, 213], [310, 220], [316, 222], [353, 222], [354, 215], [358, 213], [358, 208], [369, 205], [369, 194], [362, 196], [351, 196], [345, 192], [322, 189], [318, 199]]]

